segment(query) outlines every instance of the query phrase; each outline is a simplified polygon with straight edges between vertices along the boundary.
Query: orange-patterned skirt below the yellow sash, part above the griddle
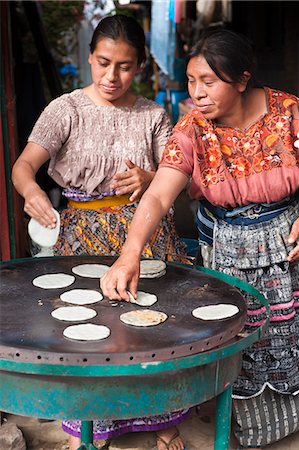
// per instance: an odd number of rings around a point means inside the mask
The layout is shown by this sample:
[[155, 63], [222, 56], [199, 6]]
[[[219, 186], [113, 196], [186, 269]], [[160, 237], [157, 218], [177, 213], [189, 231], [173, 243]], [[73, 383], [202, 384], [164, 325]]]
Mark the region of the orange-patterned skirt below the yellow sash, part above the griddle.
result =
[[[136, 207], [137, 203], [99, 210], [63, 210], [54, 255], [119, 255]], [[175, 231], [173, 209], [162, 219], [145, 245], [143, 256], [164, 260], [180, 260], [186, 256], [186, 246]]]

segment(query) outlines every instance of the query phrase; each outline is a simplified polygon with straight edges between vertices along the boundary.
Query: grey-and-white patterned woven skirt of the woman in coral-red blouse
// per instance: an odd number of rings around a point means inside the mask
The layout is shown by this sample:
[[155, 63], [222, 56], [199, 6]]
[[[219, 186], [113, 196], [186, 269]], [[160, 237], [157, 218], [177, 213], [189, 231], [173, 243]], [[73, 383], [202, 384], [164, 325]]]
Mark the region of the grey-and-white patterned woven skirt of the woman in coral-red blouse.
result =
[[[243, 352], [234, 384], [235, 435], [244, 447], [262, 447], [299, 429], [299, 262], [288, 262], [287, 242], [299, 205], [256, 225], [218, 220], [213, 266], [257, 288], [271, 316], [263, 339]], [[244, 294], [246, 329], [265, 320], [265, 308]]]

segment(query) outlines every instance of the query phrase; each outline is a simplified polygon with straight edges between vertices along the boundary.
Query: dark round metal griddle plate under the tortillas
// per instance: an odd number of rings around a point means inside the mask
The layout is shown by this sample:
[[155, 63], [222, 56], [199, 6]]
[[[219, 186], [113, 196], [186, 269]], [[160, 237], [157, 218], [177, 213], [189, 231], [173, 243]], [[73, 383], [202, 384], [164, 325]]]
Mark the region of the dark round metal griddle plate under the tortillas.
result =
[[[67, 306], [59, 295], [71, 289], [99, 288], [99, 279], [72, 273], [79, 264], [107, 264], [112, 257], [28, 258], [1, 266], [0, 358], [50, 364], [136, 364], [166, 361], [211, 350], [233, 339], [246, 319], [246, 305], [238, 289], [193, 267], [167, 264], [158, 279], [140, 279], [138, 289], [158, 297], [150, 309], [165, 312], [166, 322], [153, 327], [133, 327], [119, 320], [120, 314], [142, 307], [104, 298], [86, 305], [97, 316], [84, 322], [61, 322], [53, 309]], [[41, 289], [32, 280], [40, 275], [66, 273], [75, 282], [66, 288]], [[203, 321], [192, 316], [199, 306], [230, 303], [239, 308], [235, 316]], [[116, 306], [114, 306], [116, 305]], [[69, 305], [71, 306], [71, 305]], [[63, 330], [77, 323], [106, 325], [111, 335], [101, 341], [73, 341]]]

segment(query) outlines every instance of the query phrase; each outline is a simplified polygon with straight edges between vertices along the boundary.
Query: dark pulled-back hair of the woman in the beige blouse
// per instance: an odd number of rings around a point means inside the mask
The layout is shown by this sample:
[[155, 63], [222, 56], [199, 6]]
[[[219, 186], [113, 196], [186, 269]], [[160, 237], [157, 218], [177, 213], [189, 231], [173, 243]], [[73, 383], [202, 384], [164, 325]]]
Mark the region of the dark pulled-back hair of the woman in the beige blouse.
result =
[[137, 60], [140, 65], [146, 59], [145, 36], [142, 27], [135, 19], [129, 16], [116, 14], [104, 17], [98, 23], [89, 44], [90, 52], [93, 53], [97, 43], [104, 38], [114, 41], [122, 39], [137, 51]]

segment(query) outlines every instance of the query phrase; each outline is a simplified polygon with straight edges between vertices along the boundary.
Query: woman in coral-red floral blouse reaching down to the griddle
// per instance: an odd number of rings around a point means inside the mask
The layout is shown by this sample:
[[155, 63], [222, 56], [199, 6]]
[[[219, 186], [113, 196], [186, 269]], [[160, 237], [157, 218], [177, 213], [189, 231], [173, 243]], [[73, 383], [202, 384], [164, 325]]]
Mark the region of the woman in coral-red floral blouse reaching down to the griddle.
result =
[[[244, 352], [233, 394], [235, 435], [256, 449], [299, 428], [299, 99], [258, 87], [253, 71], [251, 45], [232, 31], [206, 32], [192, 49], [195, 108], [174, 128], [101, 286], [110, 298], [136, 293], [143, 243], [189, 182], [214, 222], [213, 267], [252, 284], [270, 304], [268, 331]], [[252, 331], [265, 309], [246, 302]]]

